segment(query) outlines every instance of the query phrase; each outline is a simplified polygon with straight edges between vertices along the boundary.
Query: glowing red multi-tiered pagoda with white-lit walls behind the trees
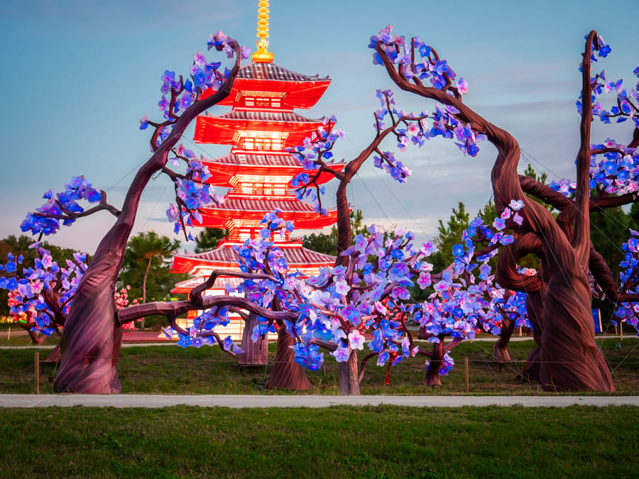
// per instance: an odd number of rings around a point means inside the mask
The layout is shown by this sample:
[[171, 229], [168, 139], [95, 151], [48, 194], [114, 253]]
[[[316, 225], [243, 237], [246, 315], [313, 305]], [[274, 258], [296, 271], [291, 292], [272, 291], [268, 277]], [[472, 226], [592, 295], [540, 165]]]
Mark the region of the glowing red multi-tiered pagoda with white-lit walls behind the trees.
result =
[[[259, 29], [258, 38], [261, 38]], [[260, 221], [270, 211], [280, 211], [279, 216], [293, 221], [296, 230], [317, 231], [337, 219], [337, 210], [320, 215], [312, 204], [295, 197], [291, 180], [303, 169], [286, 151], [301, 145], [304, 138], [322, 126], [323, 119], [309, 119], [293, 110], [314, 106], [330, 80], [276, 65], [273, 55], [266, 50], [267, 45], [264, 38], [258, 41], [253, 62], [241, 68], [231, 94], [220, 103], [231, 106], [231, 111], [218, 116], [205, 113], [197, 118], [196, 143], [231, 146], [227, 155], [202, 160], [212, 175], [207, 182], [229, 191], [222, 204], [203, 211], [202, 222], [197, 226], [228, 229], [229, 233], [214, 250], [175, 256], [173, 272], [190, 272], [195, 277], [178, 283], [174, 292], [190, 292], [213, 270], [238, 270], [233, 247], [258, 237], [262, 229]], [[343, 167], [343, 163], [332, 165], [334, 170]], [[331, 179], [332, 175], [323, 173], [318, 182]], [[304, 248], [300, 240], [290, 238], [289, 233], [284, 238], [276, 236], [274, 241], [282, 248], [290, 268], [305, 275], [316, 274], [321, 267], [334, 264], [333, 256]], [[227, 283], [236, 287], [239, 280], [222, 277], [207, 294], [228, 294], [224, 288]], [[197, 312], [189, 317], [195, 316]], [[216, 331], [222, 337], [230, 334], [239, 340], [244, 329], [244, 320], [238, 317]]]

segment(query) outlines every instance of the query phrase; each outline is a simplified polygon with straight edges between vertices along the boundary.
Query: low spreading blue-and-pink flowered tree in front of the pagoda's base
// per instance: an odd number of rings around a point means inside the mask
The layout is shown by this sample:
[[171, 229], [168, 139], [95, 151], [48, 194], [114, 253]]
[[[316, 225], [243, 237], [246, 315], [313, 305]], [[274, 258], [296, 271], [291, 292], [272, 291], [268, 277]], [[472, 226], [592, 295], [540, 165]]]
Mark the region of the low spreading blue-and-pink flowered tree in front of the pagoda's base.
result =
[[[293, 338], [291, 349], [297, 364], [317, 370], [328, 351], [345, 368], [340, 368], [340, 391], [346, 395], [359, 395], [359, 383], [366, 364], [377, 357], [378, 365], [397, 364], [403, 358], [415, 355], [412, 337], [405, 325], [406, 308], [401, 302], [410, 297], [408, 287], [412, 279], [430, 269], [424, 258], [430, 251], [413, 246], [413, 233], [398, 231], [395, 238], [384, 238], [376, 226], [368, 235], [356, 236], [354, 245], [344, 251], [346, 265], [322, 268], [319, 275], [300, 277], [298, 271], [288, 268], [282, 250], [271, 235], [283, 229], [292, 229], [277, 214], [267, 214], [263, 220], [261, 238], [247, 240], [237, 246], [240, 272], [218, 270], [209, 277], [207, 287], [217, 277], [235, 276], [243, 279], [237, 292], [245, 297], [213, 296], [195, 298], [201, 294], [198, 287], [192, 301], [201, 301], [207, 309], [188, 330], [180, 329], [175, 321], [176, 312], [191, 302], [171, 305], [154, 303], [158, 314], [168, 316], [180, 334], [180, 346], [202, 346], [219, 343], [229, 353], [241, 353], [230, 336], [220, 338], [214, 328], [226, 324], [231, 309], [243, 309], [258, 316], [253, 329], [253, 341], [268, 332], [275, 332], [275, 324], [283, 324], [286, 334]], [[232, 291], [231, 291], [232, 292]], [[120, 321], [132, 319], [151, 304], [129, 307], [119, 313]], [[399, 313], [399, 314], [398, 314]], [[282, 327], [282, 326], [280, 326]], [[373, 335], [368, 351], [359, 365], [358, 351], [363, 351], [365, 333]], [[285, 368], [281, 374], [299, 374], [297, 369]], [[294, 380], [294, 378], [293, 378]], [[290, 378], [285, 382], [291, 384]]]

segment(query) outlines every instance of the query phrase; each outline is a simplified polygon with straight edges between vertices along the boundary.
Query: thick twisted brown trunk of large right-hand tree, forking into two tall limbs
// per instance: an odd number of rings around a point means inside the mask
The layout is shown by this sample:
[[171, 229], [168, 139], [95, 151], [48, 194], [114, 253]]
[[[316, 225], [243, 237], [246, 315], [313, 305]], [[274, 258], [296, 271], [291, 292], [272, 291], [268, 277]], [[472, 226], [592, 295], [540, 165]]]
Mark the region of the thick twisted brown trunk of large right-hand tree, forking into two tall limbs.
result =
[[523, 292], [540, 290], [540, 283], [545, 282], [547, 285], [542, 294], [539, 356], [540, 380], [545, 390], [614, 390], [611, 373], [595, 342], [590, 309], [592, 297], [587, 275], [590, 258], [589, 166], [592, 120], [590, 62], [594, 41], [596, 32], [591, 31], [586, 40], [582, 64], [581, 91], [584, 102], [577, 155], [572, 235], [557, 224], [547, 209], [525, 196], [517, 172], [520, 148], [510, 133], [486, 121], [466, 106], [459, 95], [425, 87], [421, 83], [411, 83], [388, 58], [381, 45], [377, 46], [388, 75], [398, 87], [453, 106], [459, 111], [457, 119], [471, 126], [474, 131], [484, 133], [496, 147], [498, 155], [491, 172], [491, 182], [497, 214], [501, 214], [511, 200], [523, 200], [525, 204], [519, 211], [523, 217], [522, 226], [511, 226], [521, 233], [537, 236], [542, 256], [547, 261], [547, 281], [519, 275], [514, 261], [504, 254], [499, 256], [497, 279], [502, 287]]

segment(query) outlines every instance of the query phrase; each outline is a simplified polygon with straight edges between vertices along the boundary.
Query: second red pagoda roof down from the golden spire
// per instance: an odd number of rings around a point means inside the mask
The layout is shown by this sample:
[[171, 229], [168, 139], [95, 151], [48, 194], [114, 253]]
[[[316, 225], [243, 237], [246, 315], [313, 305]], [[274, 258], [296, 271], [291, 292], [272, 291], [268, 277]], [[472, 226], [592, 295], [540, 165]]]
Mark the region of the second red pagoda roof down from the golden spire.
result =
[[293, 111], [231, 110], [218, 116], [200, 115], [195, 121], [195, 143], [235, 145], [236, 133], [259, 131], [283, 133], [285, 146], [301, 145], [324, 119], [309, 119]]

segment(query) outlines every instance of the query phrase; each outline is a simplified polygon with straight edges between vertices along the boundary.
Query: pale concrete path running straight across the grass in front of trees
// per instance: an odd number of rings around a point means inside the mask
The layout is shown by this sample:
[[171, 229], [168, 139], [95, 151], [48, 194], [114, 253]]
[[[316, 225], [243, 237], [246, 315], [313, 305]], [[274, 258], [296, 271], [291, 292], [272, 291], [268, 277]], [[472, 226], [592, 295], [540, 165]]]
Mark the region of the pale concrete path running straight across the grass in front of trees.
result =
[[639, 396], [0, 395], [0, 407], [639, 406]]

